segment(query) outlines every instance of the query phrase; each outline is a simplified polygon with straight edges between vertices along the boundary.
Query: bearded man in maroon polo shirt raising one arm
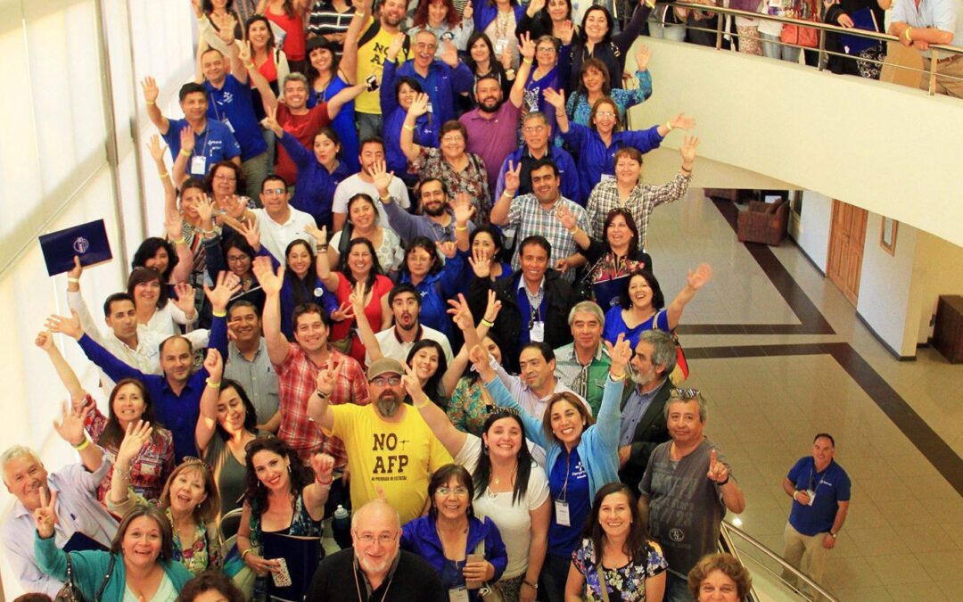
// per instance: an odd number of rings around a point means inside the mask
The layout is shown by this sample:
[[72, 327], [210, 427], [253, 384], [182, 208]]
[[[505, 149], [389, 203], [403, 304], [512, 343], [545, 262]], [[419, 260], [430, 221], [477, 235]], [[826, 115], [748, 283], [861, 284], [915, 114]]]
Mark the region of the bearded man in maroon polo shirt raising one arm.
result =
[[[524, 51], [527, 44], [522, 44]], [[534, 51], [534, 46], [533, 46]], [[534, 56], [534, 55], [533, 55]], [[495, 190], [498, 174], [508, 153], [518, 145], [518, 117], [525, 96], [525, 83], [532, 70], [532, 57], [526, 56], [518, 65], [515, 83], [505, 92], [494, 74], [484, 75], [475, 82], [475, 102], [478, 108], [458, 118], [468, 131], [468, 152], [474, 152], [484, 161], [488, 172], [488, 190]]]

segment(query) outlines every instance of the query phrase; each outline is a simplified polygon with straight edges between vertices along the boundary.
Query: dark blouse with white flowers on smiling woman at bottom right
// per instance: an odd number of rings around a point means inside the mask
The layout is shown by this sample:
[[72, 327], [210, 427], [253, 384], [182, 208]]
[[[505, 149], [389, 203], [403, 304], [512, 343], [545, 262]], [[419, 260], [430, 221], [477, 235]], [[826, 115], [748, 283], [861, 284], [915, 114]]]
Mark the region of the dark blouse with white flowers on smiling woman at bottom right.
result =
[[[586, 578], [585, 600], [601, 601], [602, 586], [599, 581], [598, 564], [595, 559], [594, 544], [591, 539], [582, 540], [582, 545], [572, 552], [572, 563]], [[642, 602], [645, 600], [645, 580], [655, 577], [668, 568], [662, 552], [650, 543], [645, 547], [644, 558], [633, 559], [619, 568], [605, 568], [605, 581], [610, 600], [623, 602]]]

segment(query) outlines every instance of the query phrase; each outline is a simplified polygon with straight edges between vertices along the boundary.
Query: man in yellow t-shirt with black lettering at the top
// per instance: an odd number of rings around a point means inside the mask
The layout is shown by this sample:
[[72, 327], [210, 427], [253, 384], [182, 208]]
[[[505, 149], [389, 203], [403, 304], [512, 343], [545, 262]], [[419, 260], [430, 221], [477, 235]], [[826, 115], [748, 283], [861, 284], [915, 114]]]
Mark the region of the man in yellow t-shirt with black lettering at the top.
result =
[[[351, 38], [355, 31], [358, 31], [360, 21], [360, 31], [357, 34], [357, 65], [355, 66], [357, 82], [365, 81], [370, 75], [374, 74], [377, 81], [381, 81], [381, 70], [384, 65], [384, 57], [388, 54], [388, 46], [395, 35], [401, 31], [400, 26], [407, 9], [405, 0], [384, 0], [377, 14], [377, 21], [371, 18], [371, 0], [364, 0], [364, 10], [356, 11], [351, 18], [351, 27], [348, 37]], [[375, 35], [372, 35], [372, 28], [377, 28]], [[349, 44], [345, 46], [346, 53], [349, 53]], [[407, 49], [403, 48], [399, 64], [407, 59]], [[393, 92], [393, 91], [392, 91]], [[381, 136], [381, 100], [378, 91], [361, 92], [354, 99], [354, 115], [358, 124], [358, 140], [364, 141], [373, 136]]]

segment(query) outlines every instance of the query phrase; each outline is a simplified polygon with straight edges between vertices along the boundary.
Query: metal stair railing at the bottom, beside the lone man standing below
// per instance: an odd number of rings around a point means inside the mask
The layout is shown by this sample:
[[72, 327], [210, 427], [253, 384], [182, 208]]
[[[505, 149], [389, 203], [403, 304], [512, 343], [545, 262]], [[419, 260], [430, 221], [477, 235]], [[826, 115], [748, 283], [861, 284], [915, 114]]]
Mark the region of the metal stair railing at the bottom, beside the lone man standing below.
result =
[[[737, 544], [736, 539], [740, 543]], [[798, 568], [787, 563], [781, 556], [770, 550], [765, 543], [750, 536], [728, 521], [722, 521], [722, 530], [719, 534], [719, 551], [732, 554], [739, 559], [743, 566], [750, 569], [753, 576], [753, 586], [748, 599], [751, 602], [779, 599], [780, 596], [773, 595], [775, 592], [768, 589], [765, 591], [765, 595], [761, 594], [764, 589], [763, 584], [772, 583], [776, 584], [772, 587], [777, 588], [778, 592], [783, 594], [786, 599], [809, 600], [810, 597], [800, 591], [800, 589], [805, 588], [809, 589], [815, 598], [826, 602], [839, 602], [836, 596], [829, 593]], [[776, 568], [770, 568], [767, 563], [775, 564]], [[786, 574], [792, 575], [800, 586], [797, 588], [788, 583], [784, 578]]]

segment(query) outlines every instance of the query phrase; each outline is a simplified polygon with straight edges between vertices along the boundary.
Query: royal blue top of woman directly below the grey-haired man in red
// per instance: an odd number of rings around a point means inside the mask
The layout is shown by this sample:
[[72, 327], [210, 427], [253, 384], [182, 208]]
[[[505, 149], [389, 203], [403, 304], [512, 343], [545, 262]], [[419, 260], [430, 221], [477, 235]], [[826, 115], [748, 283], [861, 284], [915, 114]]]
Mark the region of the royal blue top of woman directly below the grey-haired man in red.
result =
[[[298, 168], [295, 196], [291, 197], [291, 206], [311, 214], [319, 228], [326, 225], [330, 230], [334, 189], [338, 187], [341, 180], [353, 173], [351, 167], [344, 161], [340, 161], [341, 155], [339, 155], [338, 167], [329, 173], [325, 166], [318, 163], [314, 151], [305, 148], [294, 136], [285, 134], [278, 142], [288, 151], [288, 156]], [[343, 154], [344, 146], [342, 146]]]

